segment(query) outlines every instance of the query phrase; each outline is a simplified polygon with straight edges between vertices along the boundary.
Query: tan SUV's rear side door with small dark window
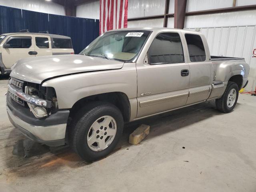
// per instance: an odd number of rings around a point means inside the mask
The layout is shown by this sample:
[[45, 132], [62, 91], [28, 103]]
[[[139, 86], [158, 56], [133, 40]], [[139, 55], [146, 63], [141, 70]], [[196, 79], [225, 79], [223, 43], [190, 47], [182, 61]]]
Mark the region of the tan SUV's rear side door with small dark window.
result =
[[50, 36], [33, 35], [36, 57], [52, 55], [52, 45]]

